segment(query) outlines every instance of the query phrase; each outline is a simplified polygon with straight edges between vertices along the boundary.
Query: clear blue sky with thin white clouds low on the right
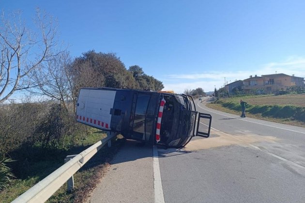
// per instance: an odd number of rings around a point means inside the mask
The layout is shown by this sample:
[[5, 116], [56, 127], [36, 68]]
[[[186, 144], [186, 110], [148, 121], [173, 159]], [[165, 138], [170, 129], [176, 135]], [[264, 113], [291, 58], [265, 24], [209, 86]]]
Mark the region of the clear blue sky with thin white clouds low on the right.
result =
[[29, 22], [36, 7], [58, 18], [73, 57], [115, 52], [165, 90], [207, 92], [275, 72], [305, 77], [304, 0], [0, 0]]

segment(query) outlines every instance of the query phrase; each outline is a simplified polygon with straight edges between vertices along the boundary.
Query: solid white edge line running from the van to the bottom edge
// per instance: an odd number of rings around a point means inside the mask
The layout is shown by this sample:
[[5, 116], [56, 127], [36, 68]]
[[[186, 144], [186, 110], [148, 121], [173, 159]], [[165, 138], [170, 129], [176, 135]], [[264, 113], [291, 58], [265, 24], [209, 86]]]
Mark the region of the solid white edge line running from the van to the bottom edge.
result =
[[158, 147], [153, 146], [153, 188], [154, 188], [154, 202], [164, 203], [164, 195], [161, 182]]

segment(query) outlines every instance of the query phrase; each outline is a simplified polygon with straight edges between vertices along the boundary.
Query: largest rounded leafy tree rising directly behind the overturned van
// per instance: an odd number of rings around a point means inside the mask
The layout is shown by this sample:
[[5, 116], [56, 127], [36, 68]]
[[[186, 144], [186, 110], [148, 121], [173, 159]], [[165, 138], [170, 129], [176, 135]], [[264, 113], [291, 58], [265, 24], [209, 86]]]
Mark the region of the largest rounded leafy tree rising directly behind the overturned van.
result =
[[137, 88], [137, 82], [115, 53], [83, 53], [72, 64], [77, 90], [80, 87]]

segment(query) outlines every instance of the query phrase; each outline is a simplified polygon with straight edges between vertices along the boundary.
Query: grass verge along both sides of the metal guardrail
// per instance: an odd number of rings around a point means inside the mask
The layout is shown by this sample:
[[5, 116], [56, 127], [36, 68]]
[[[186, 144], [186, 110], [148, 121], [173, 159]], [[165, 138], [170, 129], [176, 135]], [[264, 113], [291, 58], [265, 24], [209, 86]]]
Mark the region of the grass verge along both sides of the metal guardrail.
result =
[[[65, 152], [65, 156], [78, 154], [90, 147], [92, 144], [100, 141], [106, 137], [105, 133], [93, 132], [91, 130], [88, 136], [83, 137], [76, 142], [76, 146], [71, 150]], [[74, 175], [75, 188], [72, 193], [66, 191], [66, 184], [64, 184], [49, 200], [48, 202], [82, 202], [86, 199], [90, 190], [94, 188], [94, 184], [98, 183], [98, 179], [104, 174], [108, 161], [112, 159], [120, 146], [124, 143], [122, 136], [117, 137], [112, 142], [112, 147], [107, 145], [100, 149], [91, 160], [89, 160], [76, 174]], [[40, 180], [58, 169], [64, 160], [59, 156], [58, 160], [44, 160], [31, 163], [31, 172], [24, 179], [15, 179], [9, 188], [0, 192], [0, 202], [10, 203], [22, 193], [30, 189]]]

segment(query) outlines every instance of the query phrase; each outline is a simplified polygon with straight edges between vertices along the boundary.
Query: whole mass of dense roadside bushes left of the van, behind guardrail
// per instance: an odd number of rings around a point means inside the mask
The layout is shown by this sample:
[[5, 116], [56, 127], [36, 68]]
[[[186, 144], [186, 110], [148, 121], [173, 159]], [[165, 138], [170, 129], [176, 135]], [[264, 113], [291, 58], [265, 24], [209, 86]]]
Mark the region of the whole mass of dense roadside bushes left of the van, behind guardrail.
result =
[[77, 138], [86, 136], [86, 126], [54, 102], [1, 105], [0, 115], [0, 158], [16, 160], [9, 166], [18, 178], [31, 173], [36, 161], [64, 157]]

